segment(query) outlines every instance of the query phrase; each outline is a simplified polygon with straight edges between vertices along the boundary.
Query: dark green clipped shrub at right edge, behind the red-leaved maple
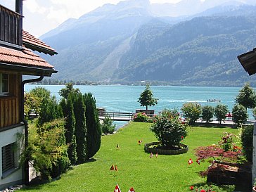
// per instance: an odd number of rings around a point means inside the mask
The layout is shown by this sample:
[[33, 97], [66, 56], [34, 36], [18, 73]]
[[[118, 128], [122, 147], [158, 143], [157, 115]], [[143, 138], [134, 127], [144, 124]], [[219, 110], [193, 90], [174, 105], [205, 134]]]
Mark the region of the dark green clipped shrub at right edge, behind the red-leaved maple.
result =
[[246, 159], [252, 162], [253, 125], [245, 126], [241, 132], [241, 143]]

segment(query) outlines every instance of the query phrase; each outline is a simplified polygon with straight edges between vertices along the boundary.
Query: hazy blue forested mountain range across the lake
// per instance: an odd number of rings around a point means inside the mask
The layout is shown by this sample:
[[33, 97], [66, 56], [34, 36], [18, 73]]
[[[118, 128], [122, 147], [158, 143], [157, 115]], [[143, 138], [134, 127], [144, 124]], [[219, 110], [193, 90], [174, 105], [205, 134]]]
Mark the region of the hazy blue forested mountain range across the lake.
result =
[[[254, 0], [105, 4], [40, 37], [58, 51], [57, 79], [256, 84], [236, 58], [256, 46]], [[254, 83], [255, 82], [255, 83]]]

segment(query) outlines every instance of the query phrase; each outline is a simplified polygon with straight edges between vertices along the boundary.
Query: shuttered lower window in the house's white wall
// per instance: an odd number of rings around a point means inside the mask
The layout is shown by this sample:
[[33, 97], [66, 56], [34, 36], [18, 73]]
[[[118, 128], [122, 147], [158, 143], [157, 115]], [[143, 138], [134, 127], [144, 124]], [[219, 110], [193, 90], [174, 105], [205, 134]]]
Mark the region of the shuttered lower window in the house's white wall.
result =
[[7, 172], [10, 169], [15, 168], [14, 161], [14, 148], [15, 143], [11, 143], [2, 147], [2, 172]]

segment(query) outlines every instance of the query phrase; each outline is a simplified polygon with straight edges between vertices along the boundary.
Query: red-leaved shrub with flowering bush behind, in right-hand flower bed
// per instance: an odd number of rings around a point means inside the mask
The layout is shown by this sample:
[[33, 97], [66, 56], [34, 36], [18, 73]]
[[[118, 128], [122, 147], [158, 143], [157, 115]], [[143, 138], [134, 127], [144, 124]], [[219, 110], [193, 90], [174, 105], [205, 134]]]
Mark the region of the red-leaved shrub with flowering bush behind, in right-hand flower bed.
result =
[[202, 177], [207, 176], [207, 181], [217, 184], [235, 184], [238, 163], [243, 162], [241, 148], [236, 146], [236, 136], [224, 132], [224, 136], [218, 145], [203, 146], [196, 148], [198, 160], [210, 160], [212, 165], [207, 170], [200, 172]]

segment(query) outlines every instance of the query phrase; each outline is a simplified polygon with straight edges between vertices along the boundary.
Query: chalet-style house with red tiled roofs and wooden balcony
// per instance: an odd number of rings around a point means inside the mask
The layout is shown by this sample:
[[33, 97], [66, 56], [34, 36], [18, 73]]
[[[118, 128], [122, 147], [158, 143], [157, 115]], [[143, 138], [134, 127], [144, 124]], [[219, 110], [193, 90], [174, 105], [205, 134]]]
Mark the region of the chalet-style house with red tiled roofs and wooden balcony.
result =
[[[28, 165], [18, 167], [21, 146], [27, 145], [24, 84], [57, 71], [33, 51], [56, 54], [54, 49], [23, 31], [23, 0], [15, 11], [0, 5], [0, 189], [28, 181]], [[23, 75], [33, 75], [23, 79]], [[24, 136], [20, 139], [20, 136]]]

